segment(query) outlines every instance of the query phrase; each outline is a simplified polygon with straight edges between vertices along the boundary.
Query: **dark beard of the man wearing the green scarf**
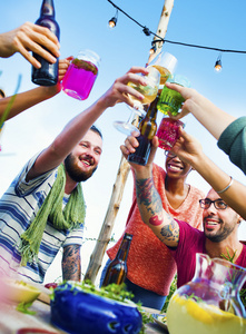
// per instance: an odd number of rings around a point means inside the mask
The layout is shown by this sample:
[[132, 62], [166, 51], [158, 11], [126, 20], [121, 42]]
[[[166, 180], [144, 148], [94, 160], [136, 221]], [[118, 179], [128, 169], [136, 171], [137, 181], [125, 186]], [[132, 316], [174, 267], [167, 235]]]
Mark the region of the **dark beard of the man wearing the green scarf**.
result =
[[81, 183], [87, 180], [92, 176], [92, 174], [96, 171], [97, 166], [94, 168], [90, 168], [87, 171], [82, 171], [77, 163], [76, 158], [72, 154], [68, 155], [67, 158], [65, 159], [65, 169], [68, 173], [69, 177], [76, 181], [76, 183]]

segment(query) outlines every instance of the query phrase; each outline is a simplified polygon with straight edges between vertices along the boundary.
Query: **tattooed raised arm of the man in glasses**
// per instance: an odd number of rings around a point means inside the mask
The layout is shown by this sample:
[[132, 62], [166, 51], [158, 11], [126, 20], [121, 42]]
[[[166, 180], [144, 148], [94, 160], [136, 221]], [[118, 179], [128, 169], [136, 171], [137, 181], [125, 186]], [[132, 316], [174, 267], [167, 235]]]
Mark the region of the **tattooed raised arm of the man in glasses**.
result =
[[[127, 159], [130, 153], [135, 151], [138, 141], [134, 136], [126, 139], [125, 146], [120, 149]], [[138, 208], [142, 222], [148, 225], [161, 243], [169, 247], [177, 247], [179, 240], [179, 225], [163, 208], [161, 198], [155, 187], [152, 179], [152, 160], [158, 146], [157, 137], [152, 139], [152, 147], [149, 160], [146, 166], [130, 164], [136, 176], [136, 194]]]

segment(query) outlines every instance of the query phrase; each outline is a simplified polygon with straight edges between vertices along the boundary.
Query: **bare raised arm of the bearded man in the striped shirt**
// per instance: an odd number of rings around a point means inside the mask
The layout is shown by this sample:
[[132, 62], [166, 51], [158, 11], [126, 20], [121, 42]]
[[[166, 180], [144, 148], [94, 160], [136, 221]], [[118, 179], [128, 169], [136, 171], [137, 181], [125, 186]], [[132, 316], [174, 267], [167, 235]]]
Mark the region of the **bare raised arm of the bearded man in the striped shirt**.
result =
[[148, 70], [144, 67], [132, 67], [126, 75], [118, 78], [92, 106], [76, 116], [53, 143], [39, 155], [29, 171], [29, 179], [59, 166], [107, 108], [114, 107], [118, 102], [126, 102], [132, 107], [134, 104], [129, 100], [127, 94], [144, 99], [141, 94], [127, 86], [129, 81], [145, 85], [144, 77], [138, 76], [138, 72], [146, 73]]

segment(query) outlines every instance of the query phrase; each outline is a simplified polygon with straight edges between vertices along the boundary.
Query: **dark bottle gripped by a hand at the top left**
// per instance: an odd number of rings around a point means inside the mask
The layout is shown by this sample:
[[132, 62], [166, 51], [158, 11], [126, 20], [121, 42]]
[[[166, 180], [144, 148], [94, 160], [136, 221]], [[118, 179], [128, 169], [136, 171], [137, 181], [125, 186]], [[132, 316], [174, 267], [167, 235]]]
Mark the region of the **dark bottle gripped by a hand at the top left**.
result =
[[[58, 40], [60, 37], [60, 28], [55, 20], [55, 7], [53, 0], [43, 0], [40, 17], [36, 21], [36, 24], [49, 28], [52, 31]], [[49, 61], [45, 60], [41, 56], [32, 52], [33, 57], [41, 63], [41, 68], [37, 69], [32, 66], [32, 75], [31, 80], [33, 84], [40, 86], [53, 86], [58, 82], [58, 65], [59, 61], [55, 63], [50, 63]]]

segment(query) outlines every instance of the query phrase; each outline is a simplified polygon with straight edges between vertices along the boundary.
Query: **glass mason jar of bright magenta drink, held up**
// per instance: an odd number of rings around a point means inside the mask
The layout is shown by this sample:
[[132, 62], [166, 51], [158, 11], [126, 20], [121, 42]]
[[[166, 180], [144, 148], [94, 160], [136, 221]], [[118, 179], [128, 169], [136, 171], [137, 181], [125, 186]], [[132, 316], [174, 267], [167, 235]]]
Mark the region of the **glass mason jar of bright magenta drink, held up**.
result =
[[91, 50], [82, 50], [71, 61], [62, 80], [62, 90], [78, 100], [86, 100], [98, 76], [100, 57]]

